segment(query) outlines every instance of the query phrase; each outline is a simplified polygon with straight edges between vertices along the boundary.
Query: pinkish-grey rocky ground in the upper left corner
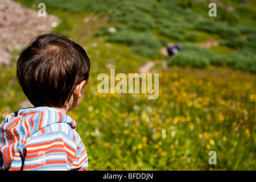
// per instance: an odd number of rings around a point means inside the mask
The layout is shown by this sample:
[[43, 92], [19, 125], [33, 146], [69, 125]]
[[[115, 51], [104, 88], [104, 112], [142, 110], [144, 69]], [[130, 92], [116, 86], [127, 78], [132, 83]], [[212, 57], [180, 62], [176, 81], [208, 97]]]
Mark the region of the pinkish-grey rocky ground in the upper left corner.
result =
[[10, 64], [13, 51], [26, 47], [35, 36], [50, 32], [58, 22], [56, 16], [40, 17], [37, 10], [11, 0], [0, 0], [0, 67]]

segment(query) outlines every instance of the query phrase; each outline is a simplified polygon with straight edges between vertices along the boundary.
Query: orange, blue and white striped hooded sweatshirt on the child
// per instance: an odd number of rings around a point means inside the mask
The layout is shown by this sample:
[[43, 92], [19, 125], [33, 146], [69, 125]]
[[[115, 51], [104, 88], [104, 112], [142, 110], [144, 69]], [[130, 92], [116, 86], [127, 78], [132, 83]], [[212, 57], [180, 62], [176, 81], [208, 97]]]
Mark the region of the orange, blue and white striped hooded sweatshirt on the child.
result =
[[76, 122], [51, 107], [20, 109], [0, 124], [1, 170], [87, 170]]

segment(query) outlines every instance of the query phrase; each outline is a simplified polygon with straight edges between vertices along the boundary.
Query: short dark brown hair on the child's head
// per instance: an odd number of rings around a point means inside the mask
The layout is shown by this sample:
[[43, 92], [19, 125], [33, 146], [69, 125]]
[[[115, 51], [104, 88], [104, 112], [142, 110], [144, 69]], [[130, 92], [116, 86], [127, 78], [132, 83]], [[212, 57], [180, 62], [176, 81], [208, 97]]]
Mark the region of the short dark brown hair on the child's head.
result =
[[63, 107], [81, 81], [88, 82], [90, 60], [85, 50], [59, 34], [34, 38], [19, 56], [17, 78], [35, 107]]

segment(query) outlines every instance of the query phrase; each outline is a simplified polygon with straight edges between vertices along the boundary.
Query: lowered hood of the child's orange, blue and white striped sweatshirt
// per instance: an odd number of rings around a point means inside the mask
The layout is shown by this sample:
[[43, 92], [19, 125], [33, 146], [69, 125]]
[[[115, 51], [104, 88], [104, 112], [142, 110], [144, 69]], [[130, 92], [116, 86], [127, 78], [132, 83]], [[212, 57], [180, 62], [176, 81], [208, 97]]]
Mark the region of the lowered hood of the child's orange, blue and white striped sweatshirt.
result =
[[76, 129], [75, 120], [52, 107], [25, 108], [6, 115], [0, 123], [0, 169], [6, 166], [3, 163], [11, 163], [15, 151], [22, 143], [26, 144], [30, 136], [59, 122]]

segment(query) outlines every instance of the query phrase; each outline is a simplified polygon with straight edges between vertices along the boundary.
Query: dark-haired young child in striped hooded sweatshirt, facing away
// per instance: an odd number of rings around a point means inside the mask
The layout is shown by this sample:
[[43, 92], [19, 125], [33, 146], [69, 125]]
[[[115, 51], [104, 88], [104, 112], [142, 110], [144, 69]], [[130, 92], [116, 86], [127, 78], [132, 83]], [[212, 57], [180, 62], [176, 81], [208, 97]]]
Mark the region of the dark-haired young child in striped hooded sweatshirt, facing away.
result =
[[19, 56], [17, 78], [34, 105], [0, 124], [1, 170], [87, 170], [76, 122], [66, 113], [82, 100], [90, 61], [65, 36], [36, 37]]

